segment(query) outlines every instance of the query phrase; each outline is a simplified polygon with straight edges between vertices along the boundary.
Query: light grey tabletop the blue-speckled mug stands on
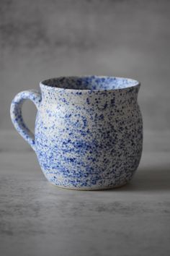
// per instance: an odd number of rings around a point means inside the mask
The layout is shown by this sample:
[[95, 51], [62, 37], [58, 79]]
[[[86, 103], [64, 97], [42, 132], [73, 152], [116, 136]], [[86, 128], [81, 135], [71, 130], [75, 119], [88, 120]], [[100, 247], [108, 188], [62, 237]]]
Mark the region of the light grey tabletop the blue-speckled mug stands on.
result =
[[48, 183], [17, 132], [0, 133], [0, 255], [170, 255], [170, 132], [145, 132], [133, 181], [82, 192]]

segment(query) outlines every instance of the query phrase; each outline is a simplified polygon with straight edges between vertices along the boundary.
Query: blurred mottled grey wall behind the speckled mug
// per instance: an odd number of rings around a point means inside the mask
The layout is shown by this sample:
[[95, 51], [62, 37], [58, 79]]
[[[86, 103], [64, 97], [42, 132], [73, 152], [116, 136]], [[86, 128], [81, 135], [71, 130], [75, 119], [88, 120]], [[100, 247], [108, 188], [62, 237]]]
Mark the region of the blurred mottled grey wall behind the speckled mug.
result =
[[[170, 1], [1, 0], [0, 129], [21, 90], [48, 77], [133, 77], [145, 129], [170, 128]], [[24, 104], [34, 126], [35, 106]]]

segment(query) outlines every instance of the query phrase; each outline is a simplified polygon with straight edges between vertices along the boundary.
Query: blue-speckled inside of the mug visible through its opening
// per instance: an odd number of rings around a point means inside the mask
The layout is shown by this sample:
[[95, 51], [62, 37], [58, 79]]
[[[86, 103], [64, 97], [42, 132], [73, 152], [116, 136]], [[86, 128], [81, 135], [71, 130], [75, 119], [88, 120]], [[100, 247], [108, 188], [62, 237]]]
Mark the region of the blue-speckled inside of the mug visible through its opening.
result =
[[123, 77], [84, 76], [84, 77], [56, 77], [41, 82], [53, 88], [71, 90], [116, 90], [134, 87], [139, 82]]

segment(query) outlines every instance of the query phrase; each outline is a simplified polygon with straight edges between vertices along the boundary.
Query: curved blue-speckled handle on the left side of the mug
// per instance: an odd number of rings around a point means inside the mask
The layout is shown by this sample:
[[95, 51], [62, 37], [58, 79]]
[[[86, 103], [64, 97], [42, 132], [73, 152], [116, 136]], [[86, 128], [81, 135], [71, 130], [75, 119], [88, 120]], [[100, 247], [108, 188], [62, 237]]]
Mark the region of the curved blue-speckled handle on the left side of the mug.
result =
[[17, 132], [19, 132], [19, 135], [30, 144], [33, 150], [36, 150], [35, 135], [33, 135], [30, 129], [27, 128], [22, 118], [22, 104], [26, 100], [35, 103], [35, 106], [38, 109], [41, 102], [41, 94], [37, 90], [24, 90], [23, 92], [18, 93], [12, 101], [10, 114], [12, 123], [14, 124], [15, 129], [17, 129]]

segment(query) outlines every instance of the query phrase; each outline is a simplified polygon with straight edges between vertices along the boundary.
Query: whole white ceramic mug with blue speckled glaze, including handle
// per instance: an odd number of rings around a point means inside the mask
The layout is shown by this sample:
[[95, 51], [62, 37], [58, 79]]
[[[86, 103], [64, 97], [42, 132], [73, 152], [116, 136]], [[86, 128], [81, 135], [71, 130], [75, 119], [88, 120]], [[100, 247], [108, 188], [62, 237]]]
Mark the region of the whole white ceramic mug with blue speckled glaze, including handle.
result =
[[[52, 184], [68, 189], [110, 189], [132, 179], [143, 147], [140, 83], [121, 77], [58, 77], [12, 101], [14, 127], [35, 150]], [[37, 107], [35, 136], [22, 119]], [[26, 163], [29, 164], [29, 163]]]

